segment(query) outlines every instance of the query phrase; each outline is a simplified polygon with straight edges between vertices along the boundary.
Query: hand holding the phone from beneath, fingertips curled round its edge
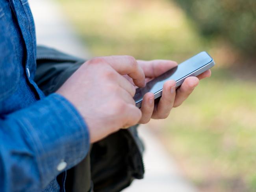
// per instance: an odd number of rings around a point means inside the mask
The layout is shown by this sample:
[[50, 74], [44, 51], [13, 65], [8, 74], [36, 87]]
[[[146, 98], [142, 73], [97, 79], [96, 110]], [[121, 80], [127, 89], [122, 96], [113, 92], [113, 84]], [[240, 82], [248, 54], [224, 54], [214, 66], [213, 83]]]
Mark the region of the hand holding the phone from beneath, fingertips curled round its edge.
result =
[[[152, 78], [160, 76], [167, 70], [177, 66], [174, 61], [167, 60], [154, 60], [154, 61], [137, 61], [145, 73], [146, 82], [150, 81]], [[145, 124], [149, 122], [150, 118], [163, 119], [169, 116], [169, 113], [173, 107], [180, 106], [188, 96], [193, 92], [195, 87], [199, 83], [199, 79], [203, 79], [211, 76], [211, 71], [200, 74], [197, 77], [188, 77], [182, 83], [182, 85], [176, 90], [176, 82], [170, 80], [164, 83], [163, 93], [160, 101], [154, 103], [154, 94], [148, 92], [143, 97], [141, 112], [142, 117], [139, 123]], [[131, 80], [126, 76], [128, 80]]]

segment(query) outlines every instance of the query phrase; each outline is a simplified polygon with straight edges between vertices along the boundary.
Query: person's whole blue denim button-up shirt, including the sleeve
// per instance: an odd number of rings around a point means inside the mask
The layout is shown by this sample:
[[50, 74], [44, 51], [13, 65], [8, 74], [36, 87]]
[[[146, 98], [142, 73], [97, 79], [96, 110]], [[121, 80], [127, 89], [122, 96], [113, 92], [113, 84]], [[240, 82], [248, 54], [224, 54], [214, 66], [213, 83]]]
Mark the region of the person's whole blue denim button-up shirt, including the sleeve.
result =
[[89, 151], [83, 118], [61, 95], [46, 97], [33, 81], [35, 70], [28, 1], [0, 0], [1, 192], [59, 191], [56, 176]]

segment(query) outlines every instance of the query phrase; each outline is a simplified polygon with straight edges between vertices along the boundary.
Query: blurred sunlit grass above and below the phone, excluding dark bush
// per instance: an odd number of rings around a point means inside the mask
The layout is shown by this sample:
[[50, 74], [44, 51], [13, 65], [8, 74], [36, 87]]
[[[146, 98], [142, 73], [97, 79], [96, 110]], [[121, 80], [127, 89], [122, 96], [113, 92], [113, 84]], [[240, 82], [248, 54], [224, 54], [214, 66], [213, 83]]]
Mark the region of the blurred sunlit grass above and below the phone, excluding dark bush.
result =
[[[214, 55], [200, 82], [167, 120], [151, 126], [188, 179], [202, 191], [256, 190], [256, 83], [220, 66], [223, 55], [167, 0], [59, 0], [92, 56], [133, 55], [178, 62], [201, 50]], [[227, 61], [229, 59], [224, 59]]]

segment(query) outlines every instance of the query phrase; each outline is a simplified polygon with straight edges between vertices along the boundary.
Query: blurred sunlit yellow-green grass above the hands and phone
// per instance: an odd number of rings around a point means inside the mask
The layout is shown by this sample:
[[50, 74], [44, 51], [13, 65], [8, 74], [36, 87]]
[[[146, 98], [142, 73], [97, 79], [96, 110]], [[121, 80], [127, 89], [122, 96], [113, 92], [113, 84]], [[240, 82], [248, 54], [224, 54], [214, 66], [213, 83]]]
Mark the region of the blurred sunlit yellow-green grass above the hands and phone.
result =
[[60, 1], [92, 56], [129, 54], [180, 62], [208, 49], [182, 10], [166, 0]]

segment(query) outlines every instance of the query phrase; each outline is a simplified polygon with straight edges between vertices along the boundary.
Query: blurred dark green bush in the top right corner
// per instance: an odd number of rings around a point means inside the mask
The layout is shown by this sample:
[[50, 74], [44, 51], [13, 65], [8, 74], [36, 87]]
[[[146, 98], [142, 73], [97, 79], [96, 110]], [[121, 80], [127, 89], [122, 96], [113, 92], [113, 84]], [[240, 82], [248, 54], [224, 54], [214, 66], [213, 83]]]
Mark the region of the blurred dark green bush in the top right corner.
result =
[[246, 54], [256, 52], [256, 0], [175, 0], [203, 35], [228, 40]]

